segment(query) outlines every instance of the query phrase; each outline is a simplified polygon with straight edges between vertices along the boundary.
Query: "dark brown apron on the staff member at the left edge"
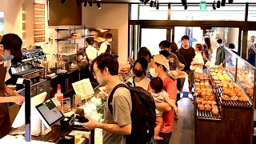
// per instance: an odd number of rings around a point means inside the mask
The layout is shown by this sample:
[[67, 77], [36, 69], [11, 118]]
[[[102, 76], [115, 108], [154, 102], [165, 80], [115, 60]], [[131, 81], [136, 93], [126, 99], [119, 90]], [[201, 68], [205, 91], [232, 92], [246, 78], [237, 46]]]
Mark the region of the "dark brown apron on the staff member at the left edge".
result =
[[[0, 97], [6, 97], [5, 78], [6, 67], [4, 67], [4, 63], [2, 63], [2, 65], [0, 65]], [[9, 134], [10, 130], [11, 123], [8, 103], [0, 103], [0, 138], [3, 138], [7, 134]]]

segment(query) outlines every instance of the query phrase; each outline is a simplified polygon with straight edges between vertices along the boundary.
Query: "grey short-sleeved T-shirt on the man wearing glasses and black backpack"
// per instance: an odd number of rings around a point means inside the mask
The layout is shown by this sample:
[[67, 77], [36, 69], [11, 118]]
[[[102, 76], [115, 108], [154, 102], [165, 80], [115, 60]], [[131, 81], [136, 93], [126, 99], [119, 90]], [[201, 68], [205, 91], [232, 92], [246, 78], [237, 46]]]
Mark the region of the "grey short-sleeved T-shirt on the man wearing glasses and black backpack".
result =
[[[112, 90], [110, 90], [111, 93]], [[109, 94], [110, 94], [109, 93]], [[118, 124], [118, 126], [126, 126], [131, 124], [130, 112], [132, 109], [130, 91], [126, 88], [120, 87], [113, 94], [113, 115], [110, 113], [107, 105], [108, 99], [104, 108], [104, 123]], [[126, 138], [122, 134], [114, 134], [103, 130], [104, 144], [125, 144]]]

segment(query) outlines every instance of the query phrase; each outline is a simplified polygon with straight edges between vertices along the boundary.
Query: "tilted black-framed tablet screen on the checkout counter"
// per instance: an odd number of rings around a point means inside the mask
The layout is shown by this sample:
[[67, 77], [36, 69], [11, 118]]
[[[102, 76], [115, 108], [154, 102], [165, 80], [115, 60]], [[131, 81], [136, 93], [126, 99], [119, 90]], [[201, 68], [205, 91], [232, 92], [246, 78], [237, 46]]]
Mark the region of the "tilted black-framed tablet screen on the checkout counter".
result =
[[42, 123], [49, 129], [50, 126], [53, 126], [56, 122], [64, 118], [64, 115], [58, 107], [54, 104], [52, 99], [42, 102], [38, 106], [35, 106], [35, 109], [38, 112], [39, 118], [41, 118]]

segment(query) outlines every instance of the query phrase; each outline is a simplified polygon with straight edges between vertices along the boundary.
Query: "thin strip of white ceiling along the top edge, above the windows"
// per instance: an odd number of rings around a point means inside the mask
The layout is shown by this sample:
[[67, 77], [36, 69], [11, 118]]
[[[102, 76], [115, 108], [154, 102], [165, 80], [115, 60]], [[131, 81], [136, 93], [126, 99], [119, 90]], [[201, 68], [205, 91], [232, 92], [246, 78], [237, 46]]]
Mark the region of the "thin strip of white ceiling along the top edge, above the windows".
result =
[[[161, 3], [168, 3], [168, 2], [181, 2], [181, 0], [158, 0]], [[214, 2], [214, 0], [205, 0], [206, 2]], [[217, 0], [216, 0], [217, 1]], [[102, 2], [138, 2], [141, 3], [139, 0], [102, 0]], [[186, 2], [201, 2], [201, 0], [186, 0]], [[228, 2], [228, 0], [226, 0]], [[234, 3], [241, 3], [241, 2], [252, 2], [256, 3], [256, 0], [234, 0]]]

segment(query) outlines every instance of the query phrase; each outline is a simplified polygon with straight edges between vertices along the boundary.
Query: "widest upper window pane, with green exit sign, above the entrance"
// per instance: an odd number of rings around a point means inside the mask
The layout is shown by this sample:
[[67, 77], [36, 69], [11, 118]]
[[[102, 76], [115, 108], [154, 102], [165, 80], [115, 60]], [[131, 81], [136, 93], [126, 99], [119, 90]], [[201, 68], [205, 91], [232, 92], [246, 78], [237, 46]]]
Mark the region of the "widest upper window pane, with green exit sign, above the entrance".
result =
[[214, 21], [244, 21], [245, 5], [226, 5], [213, 10], [211, 5], [206, 10], [200, 10], [198, 5], [189, 5], [187, 10], [181, 5], [171, 5], [171, 20], [214, 20]]

